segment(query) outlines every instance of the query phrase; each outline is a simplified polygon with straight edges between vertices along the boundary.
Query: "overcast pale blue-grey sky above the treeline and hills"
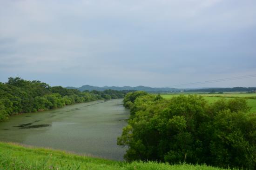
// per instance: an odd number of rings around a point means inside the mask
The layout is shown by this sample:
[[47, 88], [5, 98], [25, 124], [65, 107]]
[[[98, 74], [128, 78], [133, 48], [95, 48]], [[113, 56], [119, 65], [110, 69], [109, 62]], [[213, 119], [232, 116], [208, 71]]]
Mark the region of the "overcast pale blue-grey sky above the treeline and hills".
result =
[[[256, 0], [0, 0], [0, 82], [167, 87], [256, 74]], [[256, 86], [256, 77], [181, 88]]]

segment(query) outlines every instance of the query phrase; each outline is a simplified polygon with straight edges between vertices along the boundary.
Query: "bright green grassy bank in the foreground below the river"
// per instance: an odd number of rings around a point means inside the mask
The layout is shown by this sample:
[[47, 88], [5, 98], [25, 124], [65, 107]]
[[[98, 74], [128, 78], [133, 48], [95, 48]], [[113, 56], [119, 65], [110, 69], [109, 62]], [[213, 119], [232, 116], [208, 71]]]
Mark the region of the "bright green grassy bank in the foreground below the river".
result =
[[207, 165], [119, 162], [0, 142], [0, 170], [223, 170]]

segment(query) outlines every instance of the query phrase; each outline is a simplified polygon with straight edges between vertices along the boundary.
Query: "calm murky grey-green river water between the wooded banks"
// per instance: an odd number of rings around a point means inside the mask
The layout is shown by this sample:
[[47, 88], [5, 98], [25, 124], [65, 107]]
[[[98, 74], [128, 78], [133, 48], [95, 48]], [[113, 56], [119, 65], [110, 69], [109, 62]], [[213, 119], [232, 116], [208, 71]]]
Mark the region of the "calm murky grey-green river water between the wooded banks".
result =
[[123, 160], [125, 148], [118, 146], [116, 139], [128, 116], [122, 99], [25, 113], [0, 123], [0, 141]]

